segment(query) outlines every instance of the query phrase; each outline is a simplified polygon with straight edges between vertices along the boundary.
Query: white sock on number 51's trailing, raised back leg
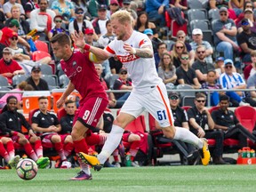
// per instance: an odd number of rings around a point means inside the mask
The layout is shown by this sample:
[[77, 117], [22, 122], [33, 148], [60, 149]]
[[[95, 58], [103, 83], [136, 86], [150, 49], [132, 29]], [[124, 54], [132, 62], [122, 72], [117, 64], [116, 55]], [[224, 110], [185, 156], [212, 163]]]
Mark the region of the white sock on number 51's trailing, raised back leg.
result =
[[181, 140], [196, 146], [196, 148], [203, 148], [204, 142], [196, 137], [193, 132], [189, 132], [188, 129], [177, 126], [175, 126], [175, 129], [174, 140]]

